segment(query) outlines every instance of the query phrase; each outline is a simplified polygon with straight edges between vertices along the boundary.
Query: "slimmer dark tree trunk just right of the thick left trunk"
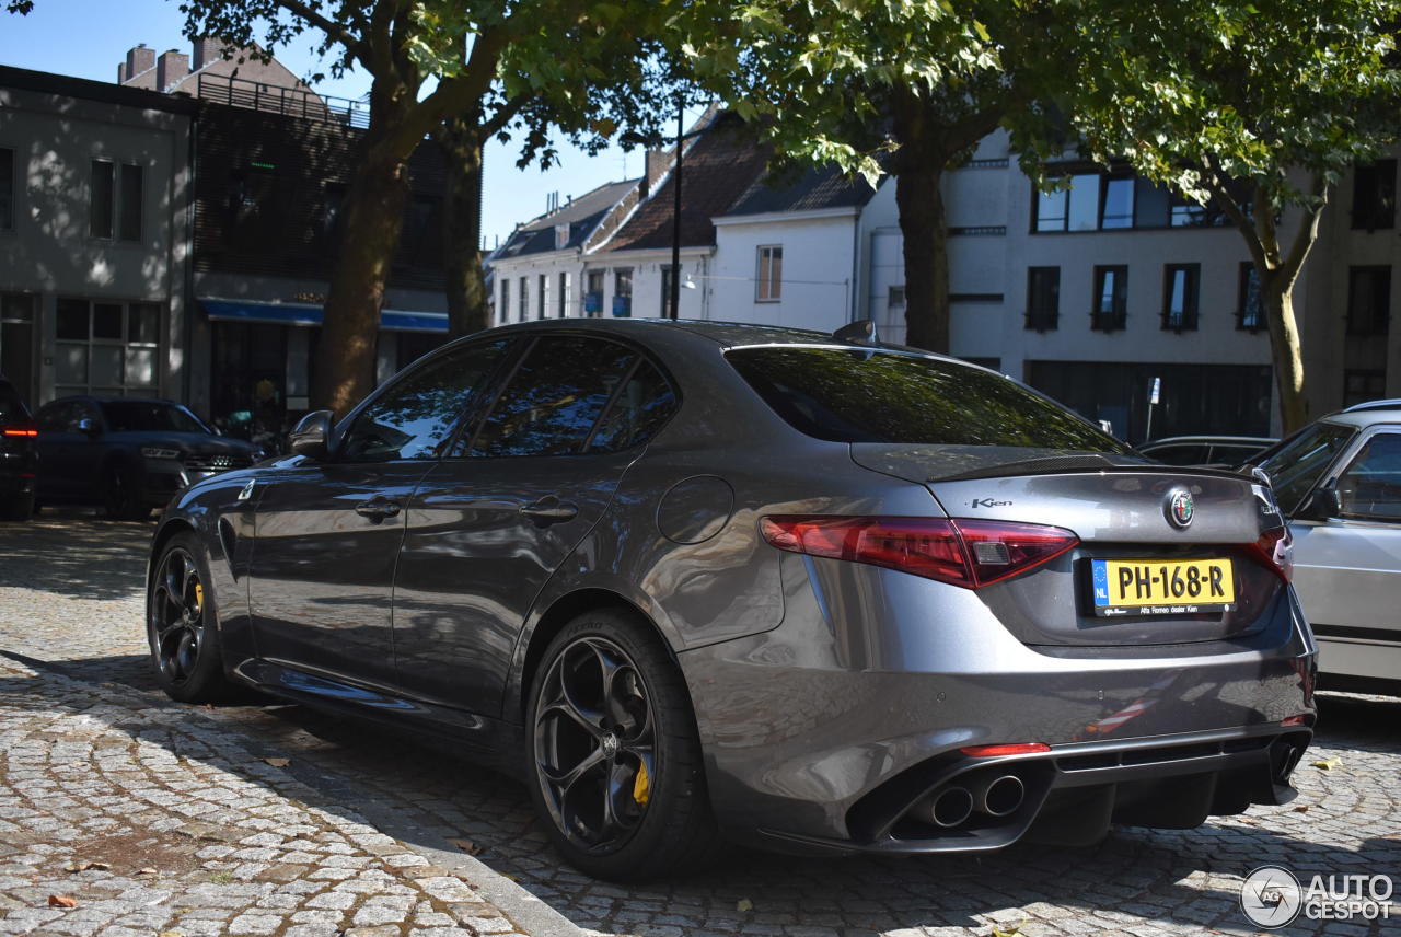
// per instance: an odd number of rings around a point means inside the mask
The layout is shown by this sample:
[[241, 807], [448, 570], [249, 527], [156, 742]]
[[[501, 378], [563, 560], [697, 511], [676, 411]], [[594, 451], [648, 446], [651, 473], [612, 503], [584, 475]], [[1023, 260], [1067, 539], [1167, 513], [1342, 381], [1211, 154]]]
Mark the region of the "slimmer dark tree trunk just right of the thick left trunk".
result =
[[482, 270], [482, 132], [475, 112], [451, 118], [437, 134], [447, 154], [443, 268], [451, 338], [490, 326]]

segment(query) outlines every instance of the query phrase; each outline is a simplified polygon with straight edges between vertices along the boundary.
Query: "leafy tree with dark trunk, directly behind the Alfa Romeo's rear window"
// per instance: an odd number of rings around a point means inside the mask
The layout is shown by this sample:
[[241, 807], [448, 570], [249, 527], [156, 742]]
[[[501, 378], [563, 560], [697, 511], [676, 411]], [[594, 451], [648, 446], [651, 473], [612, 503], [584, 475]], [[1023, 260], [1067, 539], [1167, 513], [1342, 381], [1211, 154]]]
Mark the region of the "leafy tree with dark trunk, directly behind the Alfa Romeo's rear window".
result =
[[[1044, 137], [1069, 80], [1059, 0], [693, 3], [678, 52], [782, 153], [895, 176], [908, 343], [948, 350], [943, 174], [1006, 126]], [[1034, 150], [1034, 148], [1033, 148]]]

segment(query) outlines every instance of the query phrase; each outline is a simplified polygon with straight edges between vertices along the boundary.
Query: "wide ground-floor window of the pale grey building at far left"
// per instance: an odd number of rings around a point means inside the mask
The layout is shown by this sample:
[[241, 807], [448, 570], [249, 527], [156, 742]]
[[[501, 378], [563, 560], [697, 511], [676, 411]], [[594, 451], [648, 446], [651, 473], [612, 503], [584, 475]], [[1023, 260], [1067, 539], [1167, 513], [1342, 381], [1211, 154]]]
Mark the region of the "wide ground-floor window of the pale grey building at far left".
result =
[[60, 298], [53, 384], [64, 394], [157, 396], [161, 307]]

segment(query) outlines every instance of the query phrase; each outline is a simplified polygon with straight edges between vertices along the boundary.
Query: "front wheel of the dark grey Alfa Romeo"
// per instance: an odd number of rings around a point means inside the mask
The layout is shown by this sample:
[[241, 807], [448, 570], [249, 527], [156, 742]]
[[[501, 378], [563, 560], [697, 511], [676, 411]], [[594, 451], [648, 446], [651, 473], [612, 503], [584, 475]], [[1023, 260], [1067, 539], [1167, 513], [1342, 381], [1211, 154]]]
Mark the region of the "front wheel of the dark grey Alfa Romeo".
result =
[[146, 639], [156, 682], [182, 703], [231, 695], [219, 650], [219, 616], [199, 539], [177, 534], [161, 550], [146, 595]]

